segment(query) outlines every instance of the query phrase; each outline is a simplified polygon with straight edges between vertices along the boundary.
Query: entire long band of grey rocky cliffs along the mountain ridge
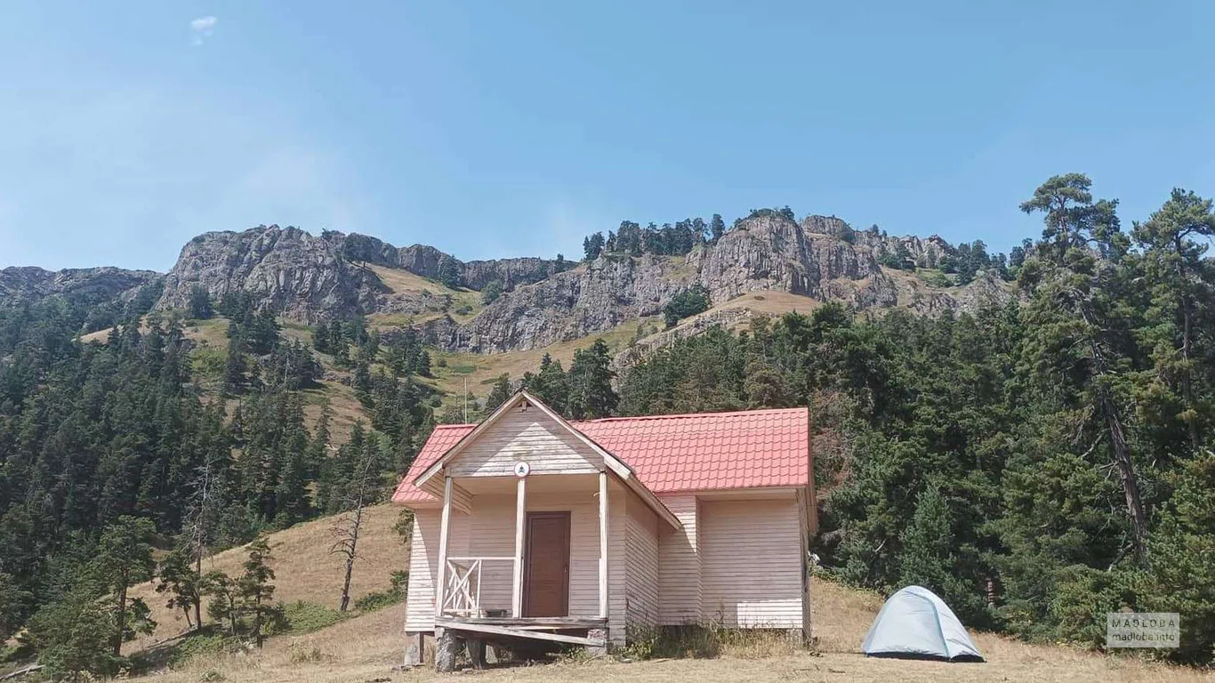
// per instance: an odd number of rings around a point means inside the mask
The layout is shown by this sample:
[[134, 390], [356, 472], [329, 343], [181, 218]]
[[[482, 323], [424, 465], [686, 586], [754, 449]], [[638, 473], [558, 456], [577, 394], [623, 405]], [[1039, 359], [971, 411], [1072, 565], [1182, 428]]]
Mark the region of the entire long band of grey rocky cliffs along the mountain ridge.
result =
[[[854, 231], [835, 216], [796, 222], [768, 211], [738, 221], [716, 243], [679, 256], [604, 253], [581, 264], [539, 258], [465, 263], [424, 244], [395, 247], [363, 235], [313, 236], [272, 225], [200, 235], [182, 248], [165, 276], [118, 269], [6, 269], [0, 271], [0, 298], [90, 290], [120, 295], [163, 278], [157, 304], [162, 310], [186, 307], [198, 287], [214, 300], [243, 292], [259, 307], [307, 322], [383, 314], [402, 316], [395, 323], [402, 324], [417, 316], [431, 343], [485, 354], [547, 346], [656, 316], [672, 295], [693, 284], [702, 286], [714, 306], [748, 292], [776, 290], [842, 301], [858, 311], [906, 306], [925, 315], [1011, 297], [1007, 283], [982, 273], [966, 287], [951, 287], [939, 273], [929, 284], [881, 265], [894, 253], [934, 265], [953, 248], [936, 236], [888, 237]], [[440, 280], [456, 280], [473, 292], [452, 290]], [[505, 292], [476, 312], [476, 290], [491, 281], [499, 281]], [[443, 315], [447, 311], [462, 322]]]

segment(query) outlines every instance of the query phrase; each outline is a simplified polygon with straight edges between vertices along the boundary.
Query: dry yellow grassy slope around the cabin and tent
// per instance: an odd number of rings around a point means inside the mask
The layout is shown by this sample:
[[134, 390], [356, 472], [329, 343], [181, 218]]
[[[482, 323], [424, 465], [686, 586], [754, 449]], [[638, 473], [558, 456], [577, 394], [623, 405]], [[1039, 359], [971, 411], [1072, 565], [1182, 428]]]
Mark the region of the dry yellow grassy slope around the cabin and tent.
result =
[[[364, 536], [363, 561], [356, 569], [355, 594], [388, 587], [389, 572], [406, 566], [407, 549], [390, 529], [397, 510], [373, 508]], [[283, 600], [311, 600], [332, 605], [338, 597], [340, 563], [328, 555], [329, 520], [303, 524], [271, 536], [278, 575], [276, 597]], [[215, 557], [216, 568], [234, 571], [239, 549]], [[159, 595], [151, 586], [136, 594], [159, 608]], [[566, 661], [544, 666], [513, 666], [482, 672], [479, 681], [1068, 681], [1068, 682], [1162, 682], [1209, 681], [1196, 670], [1169, 667], [1142, 660], [1106, 656], [1052, 645], [1029, 645], [1000, 636], [978, 633], [974, 642], [987, 664], [942, 664], [869, 659], [859, 654], [860, 643], [881, 608], [881, 597], [854, 591], [830, 581], [815, 581], [814, 636], [819, 653], [791, 647], [782, 638], [750, 638], [727, 645], [717, 659], [654, 660], [622, 664], [616, 660]], [[162, 626], [158, 637], [174, 634], [183, 626], [173, 616], [157, 613]], [[396, 605], [361, 615], [305, 636], [271, 638], [260, 651], [196, 655], [183, 665], [151, 676], [149, 682], [232, 683], [278, 682], [364, 682], [442, 681], [429, 667], [394, 671], [403, 653], [405, 606]], [[131, 645], [128, 648], [135, 649]]]

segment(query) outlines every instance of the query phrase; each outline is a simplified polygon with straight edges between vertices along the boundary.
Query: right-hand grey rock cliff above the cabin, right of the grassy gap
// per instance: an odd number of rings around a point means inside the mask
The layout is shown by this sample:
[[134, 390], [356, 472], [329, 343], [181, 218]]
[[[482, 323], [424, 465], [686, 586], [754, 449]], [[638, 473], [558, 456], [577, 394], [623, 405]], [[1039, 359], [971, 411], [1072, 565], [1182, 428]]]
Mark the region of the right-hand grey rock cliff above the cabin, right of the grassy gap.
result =
[[[837, 300], [853, 310], [906, 305], [927, 315], [1011, 297], [1005, 283], [988, 276], [961, 288], [936, 288], [914, 275], [885, 269], [877, 259], [894, 248], [891, 238], [848, 242], [838, 236], [846, 227], [835, 218], [810, 216], [797, 224], [762, 215], [686, 256], [604, 254], [503, 294], [467, 324], [431, 326], [431, 338], [471, 352], [546, 346], [657, 315], [672, 294], [693, 283], [703, 286], [714, 305], [770, 289]], [[909, 238], [906, 244], [925, 258], [937, 258], [949, 248], [940, 238]]]

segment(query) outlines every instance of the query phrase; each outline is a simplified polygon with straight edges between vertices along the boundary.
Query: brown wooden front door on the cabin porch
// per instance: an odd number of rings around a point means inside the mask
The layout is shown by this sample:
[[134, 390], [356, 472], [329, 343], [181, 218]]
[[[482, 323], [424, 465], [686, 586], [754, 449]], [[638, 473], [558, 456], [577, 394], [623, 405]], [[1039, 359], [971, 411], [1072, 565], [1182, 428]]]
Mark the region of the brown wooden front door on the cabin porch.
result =
[[570, 513], [527, 513], [524, 616], [570, 615]]

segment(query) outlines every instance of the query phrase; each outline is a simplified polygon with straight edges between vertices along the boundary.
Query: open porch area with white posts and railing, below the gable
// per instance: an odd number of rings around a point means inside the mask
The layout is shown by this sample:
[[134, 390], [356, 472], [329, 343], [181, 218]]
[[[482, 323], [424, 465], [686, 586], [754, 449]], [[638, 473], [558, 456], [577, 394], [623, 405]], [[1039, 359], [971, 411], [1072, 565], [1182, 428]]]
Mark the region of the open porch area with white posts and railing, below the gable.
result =
[[[609, 640], [609, 472], [443, 476], [435, 638], [603, 650]], [[617, 495], [621, 491], [617, 491]], [[436, 657], [442, 665], [442, 656]]]

